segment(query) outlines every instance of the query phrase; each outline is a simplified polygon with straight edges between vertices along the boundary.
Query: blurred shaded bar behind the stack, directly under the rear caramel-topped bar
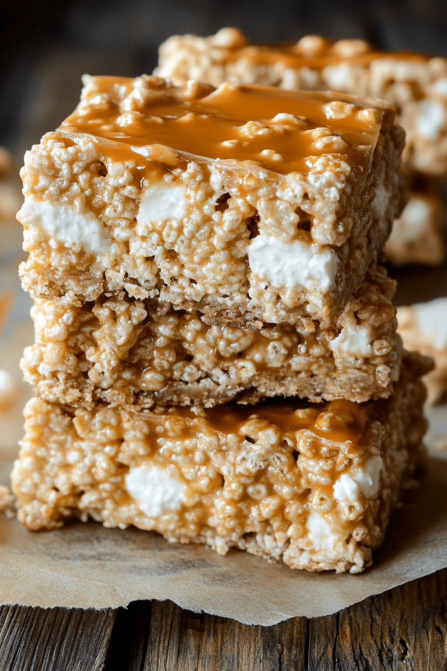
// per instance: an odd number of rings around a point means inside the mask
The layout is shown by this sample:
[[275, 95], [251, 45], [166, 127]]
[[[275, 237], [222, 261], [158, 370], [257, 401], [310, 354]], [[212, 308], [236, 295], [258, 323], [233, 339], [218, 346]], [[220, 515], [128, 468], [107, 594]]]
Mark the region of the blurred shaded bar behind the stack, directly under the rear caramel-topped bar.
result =
[[439, 266], [446, 256], [442, 232], [443, 205], [436, 191], [411, 191], [401, 216], [385, 242], [385, 256], [396, 266], [407, 263]]

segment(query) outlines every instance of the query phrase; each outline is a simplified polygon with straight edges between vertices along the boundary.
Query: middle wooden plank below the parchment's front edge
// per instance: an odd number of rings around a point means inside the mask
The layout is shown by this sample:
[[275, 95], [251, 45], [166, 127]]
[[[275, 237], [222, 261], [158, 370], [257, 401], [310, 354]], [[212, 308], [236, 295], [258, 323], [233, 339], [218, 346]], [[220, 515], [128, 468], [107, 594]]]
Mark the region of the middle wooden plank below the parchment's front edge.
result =
[[[300, 671], [306, 619], [251, 627], [224, 617], [184, 611], [171, 601], [141, 610], [128, 671]], [[143, 634], [143, 635], [142, 635]]]

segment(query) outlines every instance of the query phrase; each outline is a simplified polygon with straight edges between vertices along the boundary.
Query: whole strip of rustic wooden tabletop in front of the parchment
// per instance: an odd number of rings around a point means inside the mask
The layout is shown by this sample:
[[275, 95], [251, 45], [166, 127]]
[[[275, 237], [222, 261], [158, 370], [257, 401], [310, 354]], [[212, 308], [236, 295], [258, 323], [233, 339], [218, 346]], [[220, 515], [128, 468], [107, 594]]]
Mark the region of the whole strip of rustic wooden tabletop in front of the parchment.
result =
[[0, 671], [444, 671], [447, 570], [350, 608], [251, 627], [170, 601], [0, 607]]

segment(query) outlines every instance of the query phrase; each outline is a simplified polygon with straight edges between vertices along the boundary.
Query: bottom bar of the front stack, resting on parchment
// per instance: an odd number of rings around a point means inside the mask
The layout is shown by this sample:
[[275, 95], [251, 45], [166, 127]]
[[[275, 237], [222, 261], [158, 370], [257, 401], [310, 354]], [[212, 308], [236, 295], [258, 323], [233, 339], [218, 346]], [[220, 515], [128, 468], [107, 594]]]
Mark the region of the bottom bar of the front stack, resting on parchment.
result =
[[52, 529], [90, 516], [220, 554], [360, 572], [424, 454], [419, 378], [429, 368], [405, 354], [393, 395], [361, 404], [138, 413], [31, 399], [11, 476], [19, 520]]

